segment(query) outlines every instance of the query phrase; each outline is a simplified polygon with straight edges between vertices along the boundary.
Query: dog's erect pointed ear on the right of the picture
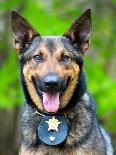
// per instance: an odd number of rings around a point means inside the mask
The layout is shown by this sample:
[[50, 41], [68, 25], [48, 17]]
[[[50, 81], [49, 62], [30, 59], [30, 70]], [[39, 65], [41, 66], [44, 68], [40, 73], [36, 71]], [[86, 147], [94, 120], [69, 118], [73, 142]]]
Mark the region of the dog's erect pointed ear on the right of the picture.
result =
[[84, 54], [89, 48], [91, 29], [91, 10], [88, 9], [74, 21], [72, 26], [65, 32], [64, 36], [68, 37], [76, 44]]

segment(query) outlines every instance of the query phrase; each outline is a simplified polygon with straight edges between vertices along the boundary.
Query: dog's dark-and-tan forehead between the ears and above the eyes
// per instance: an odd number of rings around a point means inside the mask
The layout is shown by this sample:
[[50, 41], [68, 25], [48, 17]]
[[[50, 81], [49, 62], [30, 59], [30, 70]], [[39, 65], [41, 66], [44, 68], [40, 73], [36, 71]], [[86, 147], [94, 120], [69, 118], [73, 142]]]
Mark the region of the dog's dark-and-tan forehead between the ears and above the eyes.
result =
[[24, 57], [38, 53], [39, 51], [46, 51], [48, 53], [54, 53], [56, 51], [66, 51], [71, 55], [78, 55], [78, 49], [74, 47], [70, 39], [65, 36], [41, 36], [35, 37], [24, 53]]

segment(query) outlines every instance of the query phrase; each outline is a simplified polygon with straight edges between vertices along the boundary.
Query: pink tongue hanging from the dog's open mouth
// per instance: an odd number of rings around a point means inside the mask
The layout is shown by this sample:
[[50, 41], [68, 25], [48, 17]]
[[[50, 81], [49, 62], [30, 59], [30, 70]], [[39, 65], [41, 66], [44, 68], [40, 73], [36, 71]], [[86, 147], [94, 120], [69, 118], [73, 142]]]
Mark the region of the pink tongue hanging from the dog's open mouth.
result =
[[43, 105], [47, 112], [57, 112], [59, 104], [59, 93], [43, 92]]

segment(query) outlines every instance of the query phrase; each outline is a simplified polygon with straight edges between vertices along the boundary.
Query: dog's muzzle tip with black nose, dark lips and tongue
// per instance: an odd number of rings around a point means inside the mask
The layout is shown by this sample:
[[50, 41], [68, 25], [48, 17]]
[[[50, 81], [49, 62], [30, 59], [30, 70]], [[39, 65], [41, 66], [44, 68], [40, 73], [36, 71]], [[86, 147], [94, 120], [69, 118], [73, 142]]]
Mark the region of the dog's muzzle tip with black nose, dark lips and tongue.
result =
[[56, 113], [60, 107], [60, 96], [66, 88], [66, 81], [57, 73], [49, 72], [41, 80], [36, 80], [37, 88], [42, 92], [44, 109], [49, 113]]

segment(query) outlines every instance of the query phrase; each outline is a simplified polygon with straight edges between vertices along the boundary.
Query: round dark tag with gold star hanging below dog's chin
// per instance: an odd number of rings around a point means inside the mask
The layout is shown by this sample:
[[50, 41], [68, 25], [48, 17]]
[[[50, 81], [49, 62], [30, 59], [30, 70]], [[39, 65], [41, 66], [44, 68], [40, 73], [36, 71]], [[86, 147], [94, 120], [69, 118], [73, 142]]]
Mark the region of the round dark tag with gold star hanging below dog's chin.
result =
[[64, 142], [68, 135], [68, 123], [63, 114], [41, 114], [37, 129], [38, 138], [44, 144], [55, 146]]

